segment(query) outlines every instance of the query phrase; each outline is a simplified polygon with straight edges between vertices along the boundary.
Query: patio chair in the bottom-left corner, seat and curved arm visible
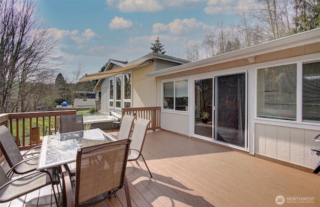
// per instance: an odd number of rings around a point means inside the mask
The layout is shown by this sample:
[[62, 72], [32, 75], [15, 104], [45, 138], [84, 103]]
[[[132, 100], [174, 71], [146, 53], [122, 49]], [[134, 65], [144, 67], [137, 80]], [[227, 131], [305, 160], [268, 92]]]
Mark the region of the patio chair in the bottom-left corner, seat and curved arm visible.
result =
[[9, 179], [0, 167], [0, 203], [8, 202], [34, 190], [51, 184], [56, 206], [59, 206], [54, 184], [59, 183], [57, 168], [32, 171], [14, 179]]

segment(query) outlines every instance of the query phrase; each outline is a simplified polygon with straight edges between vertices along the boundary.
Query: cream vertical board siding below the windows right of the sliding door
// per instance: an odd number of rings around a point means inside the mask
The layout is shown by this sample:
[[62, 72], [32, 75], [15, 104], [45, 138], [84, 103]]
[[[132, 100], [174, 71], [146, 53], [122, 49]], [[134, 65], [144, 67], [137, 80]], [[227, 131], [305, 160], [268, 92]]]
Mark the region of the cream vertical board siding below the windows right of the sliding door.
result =
[[316, 147], [312, 138], [318, 133], [317, 130], [255, 123], [255, 153], [313, 168], [320, 157], [312, 155], [310, 148]]

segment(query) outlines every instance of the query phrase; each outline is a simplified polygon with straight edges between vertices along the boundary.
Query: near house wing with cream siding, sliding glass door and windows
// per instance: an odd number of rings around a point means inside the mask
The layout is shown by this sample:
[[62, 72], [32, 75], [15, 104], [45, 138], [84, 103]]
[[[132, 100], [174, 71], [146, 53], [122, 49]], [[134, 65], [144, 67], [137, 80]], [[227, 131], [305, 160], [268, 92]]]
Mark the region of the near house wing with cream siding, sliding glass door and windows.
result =
[[162, 129], [297, 168], [319, 161], [320, 28], [146, 76]]

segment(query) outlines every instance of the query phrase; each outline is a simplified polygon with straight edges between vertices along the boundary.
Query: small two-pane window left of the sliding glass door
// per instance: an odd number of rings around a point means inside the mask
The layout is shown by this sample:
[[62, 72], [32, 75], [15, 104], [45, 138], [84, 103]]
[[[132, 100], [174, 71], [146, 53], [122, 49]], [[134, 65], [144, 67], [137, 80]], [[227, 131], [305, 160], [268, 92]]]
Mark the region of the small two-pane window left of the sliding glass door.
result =
[[163, 83], [163, 108], [188, 110], [188, 80]]

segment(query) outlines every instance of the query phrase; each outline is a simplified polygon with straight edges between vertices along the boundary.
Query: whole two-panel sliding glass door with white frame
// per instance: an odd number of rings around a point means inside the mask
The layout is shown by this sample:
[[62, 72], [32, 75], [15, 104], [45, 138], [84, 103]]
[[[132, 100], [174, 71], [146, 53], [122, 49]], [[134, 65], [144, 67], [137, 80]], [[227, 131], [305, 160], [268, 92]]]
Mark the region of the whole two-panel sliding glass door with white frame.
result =
[[195, 136], [246, 147], [246, 73], [193, 82]]

